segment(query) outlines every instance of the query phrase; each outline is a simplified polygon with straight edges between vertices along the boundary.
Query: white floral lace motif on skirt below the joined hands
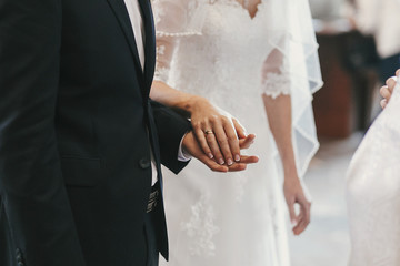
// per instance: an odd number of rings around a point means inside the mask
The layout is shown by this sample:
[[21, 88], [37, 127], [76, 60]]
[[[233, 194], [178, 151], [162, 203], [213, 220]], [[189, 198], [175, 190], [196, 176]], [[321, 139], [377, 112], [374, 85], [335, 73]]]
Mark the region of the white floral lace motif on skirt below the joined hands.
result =
[[216, 213], [206, 195], [191, 207], [191, 218], [188, 223], [182, 223], [181, 228], [192, 239], [189, 246], [192, 256], [216, 255], [213, 237], [220, 229], [216, 226]]

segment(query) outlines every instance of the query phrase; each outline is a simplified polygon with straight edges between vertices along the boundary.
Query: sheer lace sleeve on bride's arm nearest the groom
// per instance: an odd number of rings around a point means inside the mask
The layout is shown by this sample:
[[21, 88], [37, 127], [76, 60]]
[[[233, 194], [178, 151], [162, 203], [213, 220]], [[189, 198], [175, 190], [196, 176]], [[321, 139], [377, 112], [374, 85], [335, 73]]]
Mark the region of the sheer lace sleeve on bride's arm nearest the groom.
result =
[[179, 39], [201, 34], [204, 0], [154, 0], [157, 64], [154, 80], [168, 82], [169, 70]]

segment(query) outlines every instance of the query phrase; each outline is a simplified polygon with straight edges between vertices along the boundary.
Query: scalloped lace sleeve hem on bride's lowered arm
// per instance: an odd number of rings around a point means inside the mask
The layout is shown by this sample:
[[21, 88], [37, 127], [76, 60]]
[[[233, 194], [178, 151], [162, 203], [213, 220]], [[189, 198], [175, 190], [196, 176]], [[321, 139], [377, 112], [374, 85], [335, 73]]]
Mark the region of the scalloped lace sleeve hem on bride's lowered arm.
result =
[[262, 89], [263, 93], [273, 99], [281, 94], [290, 95], [290, 79], [284, 74], [268, 73]]

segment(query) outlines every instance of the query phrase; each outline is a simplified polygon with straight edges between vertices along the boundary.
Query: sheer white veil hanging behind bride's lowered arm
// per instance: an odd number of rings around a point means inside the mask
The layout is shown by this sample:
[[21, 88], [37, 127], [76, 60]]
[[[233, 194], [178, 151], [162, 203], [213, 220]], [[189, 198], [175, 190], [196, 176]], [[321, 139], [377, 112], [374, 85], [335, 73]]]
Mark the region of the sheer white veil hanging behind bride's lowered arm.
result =
[[[290, 84], [293, 147], [299, 175], [303, 176], [319, 147], [312, 94], [323, 84], [310, 7], [308, 0], [264, 1], [268, 17], [274, 18], [266, 20], [270, 44], [284, 57], [281, 72]], [[277, 19], [277, 13], [286, 16]]]

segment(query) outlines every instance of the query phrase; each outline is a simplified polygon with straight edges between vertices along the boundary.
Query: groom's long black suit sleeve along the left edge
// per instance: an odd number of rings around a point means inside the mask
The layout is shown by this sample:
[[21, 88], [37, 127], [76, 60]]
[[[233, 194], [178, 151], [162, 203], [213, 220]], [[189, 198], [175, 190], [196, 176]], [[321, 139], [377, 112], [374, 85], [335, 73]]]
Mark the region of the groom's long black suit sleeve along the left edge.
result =
[[0, 229], [18, 265], [86, 265], [54, 133], [60, 39], [61, 0], [0, 0]]

